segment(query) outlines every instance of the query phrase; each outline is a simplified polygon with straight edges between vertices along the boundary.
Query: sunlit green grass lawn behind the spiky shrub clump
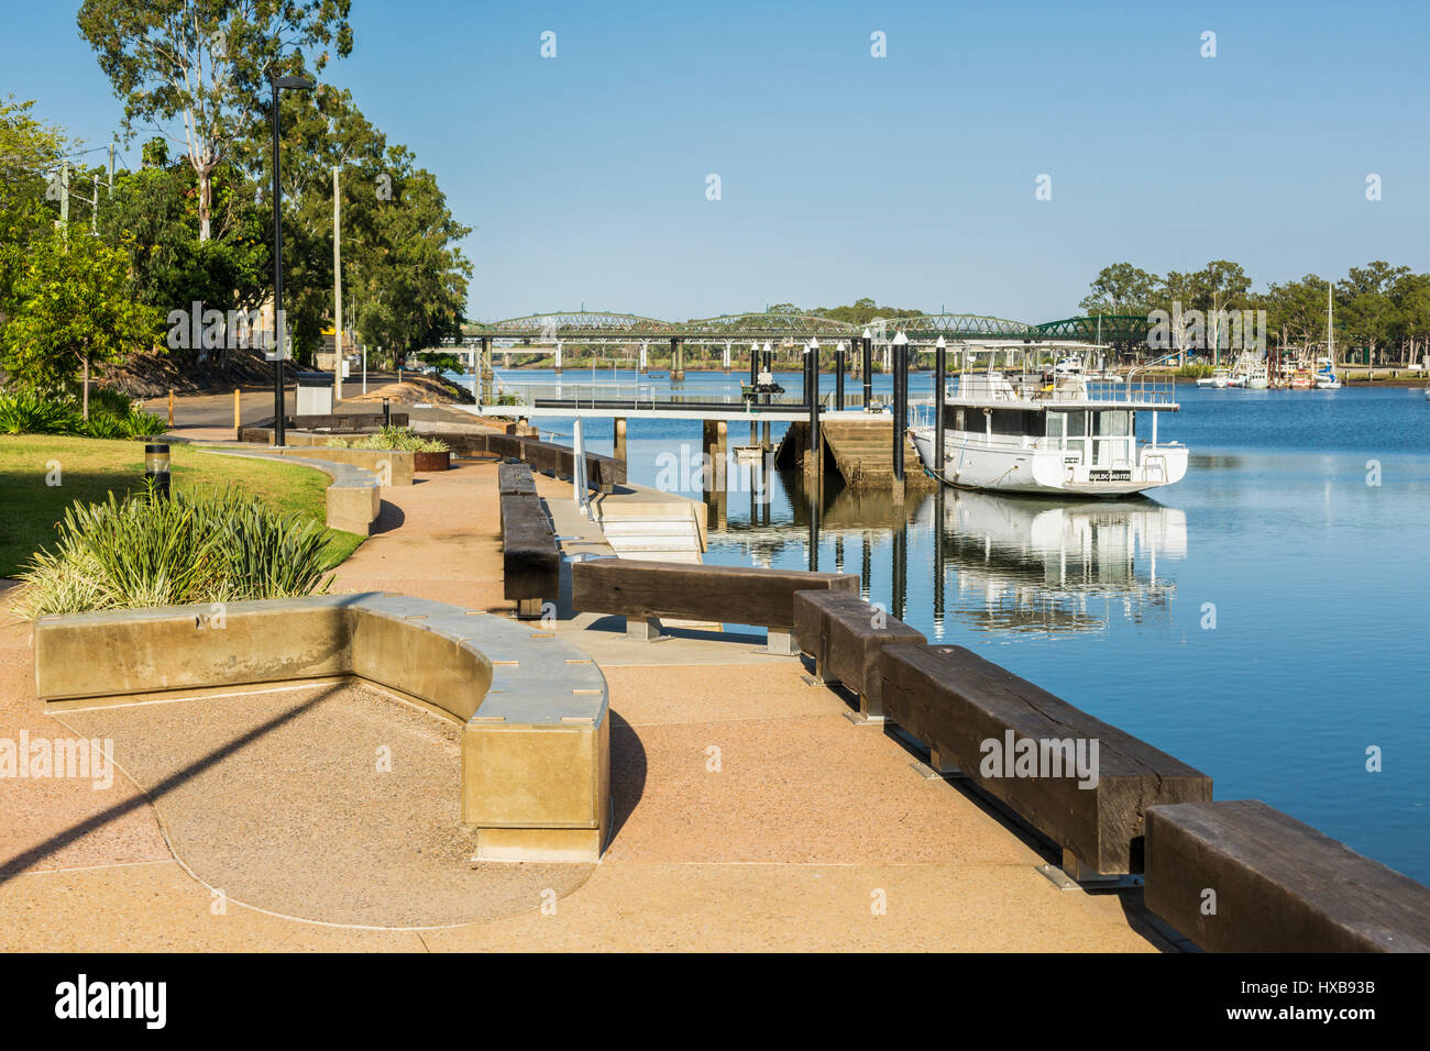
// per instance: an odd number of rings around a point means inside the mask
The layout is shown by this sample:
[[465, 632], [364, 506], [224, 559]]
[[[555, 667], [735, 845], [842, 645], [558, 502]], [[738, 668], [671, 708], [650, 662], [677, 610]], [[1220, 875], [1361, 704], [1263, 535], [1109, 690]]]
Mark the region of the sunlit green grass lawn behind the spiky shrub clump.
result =
[[[235, 485], [287, 515], [323, 522], [327, 476], [312, 468], [239, 459], [170, 443], [176, 489]], [[49, 485], [51, 469], [59, 485]], [[144, 443], [57, 435], [0, 435], [0, 576], [14, 576], [39, 548], [54, 542], [54, 528], [74, 500], [123, 496], [144, 483]], [[356, 533], [327, 531], [327, 568], [363, 542]]]

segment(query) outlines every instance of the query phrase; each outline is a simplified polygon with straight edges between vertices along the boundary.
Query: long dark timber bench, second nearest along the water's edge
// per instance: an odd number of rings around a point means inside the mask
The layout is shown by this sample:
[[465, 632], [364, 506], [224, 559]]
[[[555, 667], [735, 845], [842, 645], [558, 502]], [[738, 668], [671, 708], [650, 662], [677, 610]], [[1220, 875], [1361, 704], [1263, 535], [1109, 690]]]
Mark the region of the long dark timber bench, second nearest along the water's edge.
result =
[[1052, 839], [1074, 879], [1141, 872], [1147, 808], [1211, 799], [1205, 774], [962, 646], [884, 646], [877, 673], [885, 715], [932, 765]]

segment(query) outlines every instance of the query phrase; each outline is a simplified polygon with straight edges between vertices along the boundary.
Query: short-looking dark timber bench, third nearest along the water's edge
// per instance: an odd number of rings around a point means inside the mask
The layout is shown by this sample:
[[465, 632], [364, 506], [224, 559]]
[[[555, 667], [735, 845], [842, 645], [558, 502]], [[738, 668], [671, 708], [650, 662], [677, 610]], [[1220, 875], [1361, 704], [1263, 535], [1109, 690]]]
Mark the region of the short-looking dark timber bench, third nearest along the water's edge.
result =
[[795, 638], [814, 658], [822, 682], [842, 682], [859, 695], [859, 714], [881, 721], [884, 705], [877, 672], [879, 651], [928, 639], [902, 621], [848, 591], [795, 592]]

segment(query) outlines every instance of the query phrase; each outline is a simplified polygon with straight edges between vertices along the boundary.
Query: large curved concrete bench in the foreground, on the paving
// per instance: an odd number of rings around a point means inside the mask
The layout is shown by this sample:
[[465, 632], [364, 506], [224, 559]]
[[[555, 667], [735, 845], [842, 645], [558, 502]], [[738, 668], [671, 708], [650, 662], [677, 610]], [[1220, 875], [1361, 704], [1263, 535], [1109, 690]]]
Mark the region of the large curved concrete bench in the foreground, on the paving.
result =
[[482, 861], [595, 861], [611, 829], [606, 681], [553, 635], [378, 592], [43, 616], [46, 709], [355, 678], [462, 724]]

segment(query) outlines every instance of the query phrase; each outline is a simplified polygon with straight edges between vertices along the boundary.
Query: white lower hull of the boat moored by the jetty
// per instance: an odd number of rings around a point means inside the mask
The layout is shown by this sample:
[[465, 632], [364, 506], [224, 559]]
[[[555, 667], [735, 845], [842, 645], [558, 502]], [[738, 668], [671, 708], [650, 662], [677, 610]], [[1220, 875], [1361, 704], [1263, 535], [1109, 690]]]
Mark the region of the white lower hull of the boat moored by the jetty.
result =
[[[908, 433], [932, 473], [934, 429], [911, 428]], [[1137, 450], [1137, 463], [1085, 465], [1068, 462], [1062, 449], [987, 445], [950, 435], [940, 480], [961, 489], [992, 492], [1130, 496], [1180, 482], [1187, 473], [1187, 459], [1184, 445], [1144, 445]]]

